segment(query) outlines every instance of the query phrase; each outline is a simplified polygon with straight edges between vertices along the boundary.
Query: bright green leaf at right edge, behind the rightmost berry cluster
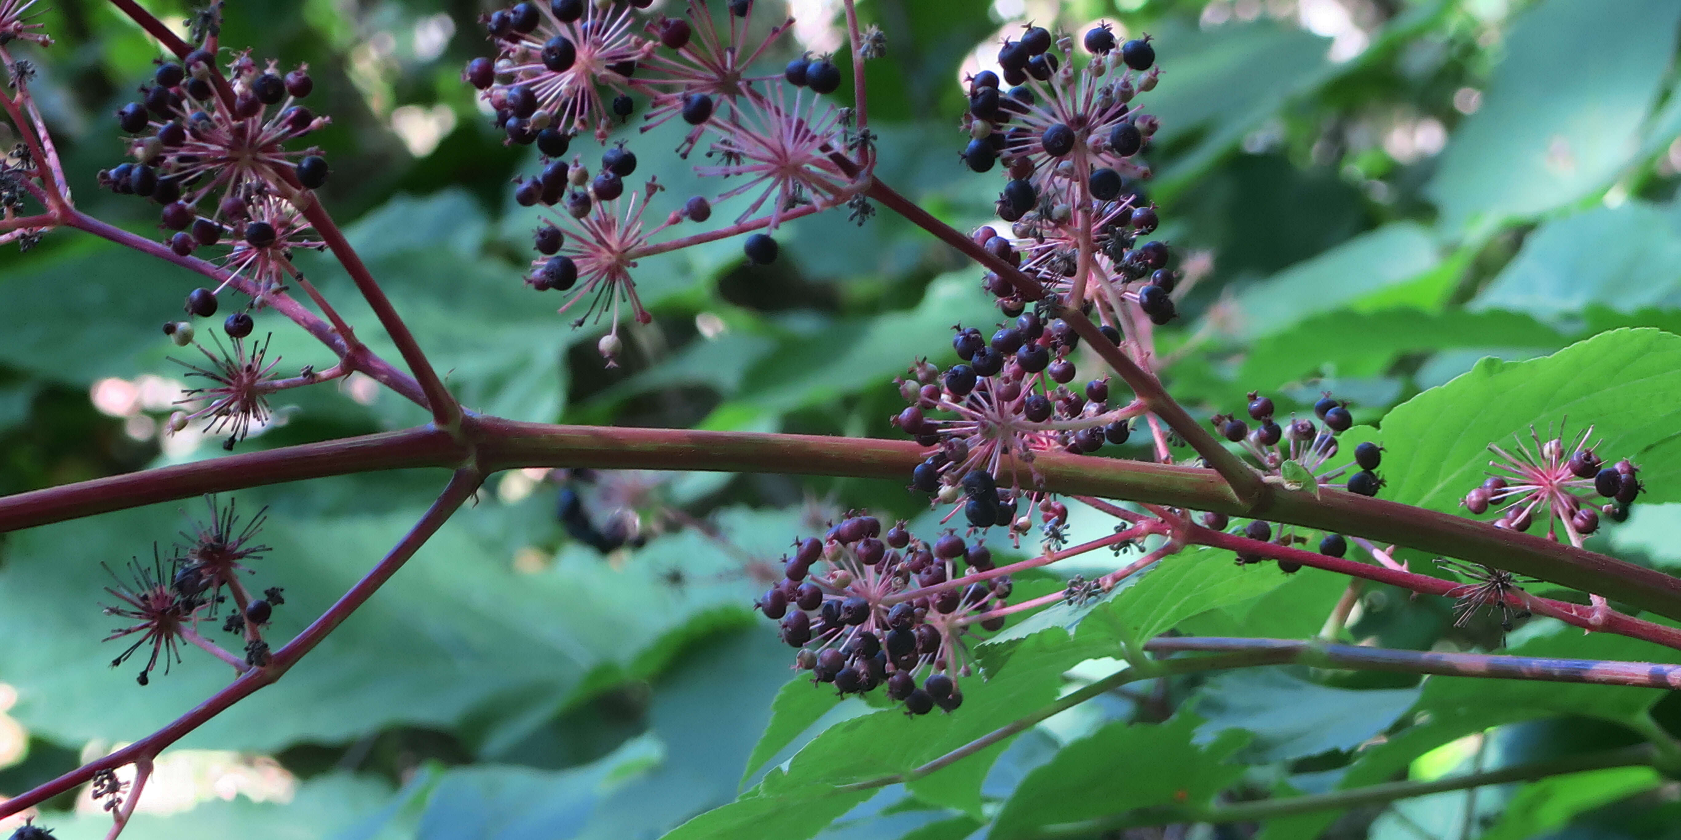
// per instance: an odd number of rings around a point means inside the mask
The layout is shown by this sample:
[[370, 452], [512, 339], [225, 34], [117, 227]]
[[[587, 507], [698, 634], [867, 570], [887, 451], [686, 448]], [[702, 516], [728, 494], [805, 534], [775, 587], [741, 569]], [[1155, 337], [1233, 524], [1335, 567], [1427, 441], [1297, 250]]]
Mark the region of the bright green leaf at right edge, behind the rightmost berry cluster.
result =
[[[1594, 423], [1605, 457], [1632, 457], [1654, 501], [1678, 496], [1681, 479], [1681, 336], [1617, 329], [1552, 356], [1503, 363], [1483, 360], [1471, 373], [1431, 388], [1392, 410], [1373, 435], [1383, 455], [1383, 497], [1437, 511], [1483, 480], [1489, 444], [1541, 435], [1568, 418], [1570, 430]], [[1533, 444], [1531, 444], [1533, 447]]]

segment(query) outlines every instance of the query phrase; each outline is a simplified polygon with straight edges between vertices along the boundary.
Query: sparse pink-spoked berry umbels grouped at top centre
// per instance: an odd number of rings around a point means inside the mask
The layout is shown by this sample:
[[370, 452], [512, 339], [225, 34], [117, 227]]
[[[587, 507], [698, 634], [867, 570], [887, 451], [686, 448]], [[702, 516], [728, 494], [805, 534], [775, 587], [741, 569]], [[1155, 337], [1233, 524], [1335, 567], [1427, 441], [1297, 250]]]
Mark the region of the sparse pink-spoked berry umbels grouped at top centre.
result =
[[[763, 265], [780, 249], [761, 230], [842, 203], [856, 205], [864, 183], [862, 165], [846, 156], [859, 143], [844, 113], [804, 94], [807, 87], [814, 94], [839, 89], [840, 71], [832, 60], [804, 55], [782, 77], [746, 74], [792, 20], [772, 27], [758, 45], [743, 45], [751, 0], [728, 3], [728, 30], [704, 0], [689, 0], [688, 18], [639, 18], [639, 10], [651, 5], [646, 0], [516, 3], [484, 17], [496, 57], [472, 59], [462, 72], [496, 111], [494, 124], [508, 143], [535, 144], [545, 160], [541, 175], [518, 181], [514, 190], [521, 205], [555, 210], [535, 232], [540, 257], [526, 282], [538, 291], [577, 287], [561, 312], [588, 296], [592, 304], [573, 326], [592, 316], [612, 319], [598, 344], [609, 366], [622, 346], [620, 307], [639, 323], [651, 319], [630, 277], [639, 257], [748, 234], [743, 254]], [[566, 160], [583, 131], [593, 129], [607, 143], [612, 119], [627, 119], [635, 111], [635, 96], [649, 101], [642, 131], [681, 118], [693, 126], [676, 150], [682, 158], [711, 134], [706, 151], [711, 163], [696, 166], [696, 173], [736, 178], [736, 185], [714, 198], [691, 197], [662, 223], [646, 225], [642, 215], [661, 186], [651, 180], [640, 195], [627, 192], [624, 180], [635, 170], [635, 155], [624, 143], [602, 155], [593, 176], [578, 156]], [[736, 197], [750, 198], [731, 227], [656, 242], [672, 225], [709, 220], [714, 202]]]

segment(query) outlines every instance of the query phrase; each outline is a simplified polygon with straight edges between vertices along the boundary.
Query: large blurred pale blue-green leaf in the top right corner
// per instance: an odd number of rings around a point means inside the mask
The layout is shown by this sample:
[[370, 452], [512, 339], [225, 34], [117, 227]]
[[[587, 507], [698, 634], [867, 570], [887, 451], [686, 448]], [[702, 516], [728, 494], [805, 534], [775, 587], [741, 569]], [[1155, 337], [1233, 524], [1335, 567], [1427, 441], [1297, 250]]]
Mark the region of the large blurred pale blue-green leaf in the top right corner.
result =
[[1518, 17], [1483, 108], [1454, 131], [1425, 186], [1441, 230], [1545, 213], [1615, 178], [1639, 148], [1678, 18], [1681, 7], [1666, 0], [1543, 0]]

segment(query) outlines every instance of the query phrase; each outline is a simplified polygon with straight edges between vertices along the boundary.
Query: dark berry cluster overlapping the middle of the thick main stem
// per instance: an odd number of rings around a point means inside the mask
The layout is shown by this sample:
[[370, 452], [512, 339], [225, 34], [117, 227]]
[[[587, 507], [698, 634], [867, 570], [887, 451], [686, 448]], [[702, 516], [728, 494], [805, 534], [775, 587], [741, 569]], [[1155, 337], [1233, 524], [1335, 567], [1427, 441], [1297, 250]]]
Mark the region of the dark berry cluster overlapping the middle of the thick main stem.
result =
[[[1029, 526], [1015, 514], [1022, 470], [1030, 474], [1034, 455], [1049, 449], [1091, 454], [1104, 444], [1125, 444], [1128, 423], [1143, 407], [1109, 408], [1108, 378], [1069, 388], [1078, 378], [1069, 356], [1079, 336], [1061, 318], [1047, 323], [1037, 312], [1022, 312], [990, 339], [975, 328], [955, 329], [951, 344], [962, 363], [941, 373], [923, 361], [911, 368], [911, 378], [899, 380], [909, 407], [893, 423], [918, 444], [938, 447], [911, 472], [911, 487], [943, 502], [965, 499], [972, 528], [999, 524], [1025, 533]], [[1118, 339], [1108, 328], [1106, 334]], [[1000, 494], [999, 484], [1012, 492]], [[1027, 497], [1041, 496], [1030, 489], [1035, 484], [1025, 482]]]

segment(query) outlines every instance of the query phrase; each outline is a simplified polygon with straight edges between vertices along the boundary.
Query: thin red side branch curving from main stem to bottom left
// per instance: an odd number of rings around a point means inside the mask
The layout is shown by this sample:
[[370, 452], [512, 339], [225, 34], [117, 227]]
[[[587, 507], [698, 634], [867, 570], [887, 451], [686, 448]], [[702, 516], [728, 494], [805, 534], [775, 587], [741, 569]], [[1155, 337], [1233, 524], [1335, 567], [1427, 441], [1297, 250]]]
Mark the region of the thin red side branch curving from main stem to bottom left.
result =
[[392, 578], [397, 570], [403, 568], [403, 563], [414, 556], [415, 551], [425, 544], [439, 528], [449, 521], [451, 514], [479, 489], [482, 477], [472, 470], [457, 470], [444, 487], [444, 494], [432, 502], [425, 516], [403, 536], [400, 543], [382, 559], [366, 576], [356, 581], [343, 598], [338, 600], [326, 613], [316, 618], [303, 633], [286, 643], [286, 647], [276, 650], [269, 657], [269, 664], [261, 669], [250, 669], [225, 689], [215, 692], [205, 702], [193, 707], [190, 712], [180, 716], [170, 726], [158, 729], [156, 732], [134, 741], [133, 744], [111, 753], [97, 761], [91, 761], [76, 768], [39, 788], [15, 796], [0, 803], [0, 816], [10, 816], [24, 808], [39, 805], [50, 800], [61, 793], [74, 790], [79, 785], [87, 783], [96, 773], [103, 769], [116, 769], [124, 764], [134, 764], [140, 761], [150, 761], [158, 756], [165, 748], [180, 741], [182, 736], [192, 732], [205, 721], [222, 714], [235, 702], [256, 694], [264, 685], [279, 680], [287, 669], [298, 664], [309, 650], [321, 643], [328, 633], [333, 632], [350, 613], [356, 612], [358, 606], [366, 603], [368, 598], [378, 591], [380, 585]]

